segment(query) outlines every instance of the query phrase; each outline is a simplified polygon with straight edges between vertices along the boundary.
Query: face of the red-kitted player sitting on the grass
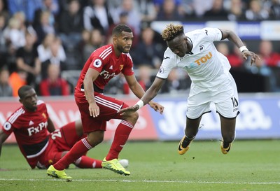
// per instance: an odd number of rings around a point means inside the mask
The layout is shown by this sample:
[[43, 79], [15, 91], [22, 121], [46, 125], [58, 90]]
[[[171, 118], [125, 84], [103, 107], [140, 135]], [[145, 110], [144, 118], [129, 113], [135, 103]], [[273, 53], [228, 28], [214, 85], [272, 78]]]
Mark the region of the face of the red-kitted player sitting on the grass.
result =
[[28, 90], [25, 92], [25, 97], [20, 99], [20, 103], [28, 111], [36, 111], [37, 109], [37, 94], [34, 89]]

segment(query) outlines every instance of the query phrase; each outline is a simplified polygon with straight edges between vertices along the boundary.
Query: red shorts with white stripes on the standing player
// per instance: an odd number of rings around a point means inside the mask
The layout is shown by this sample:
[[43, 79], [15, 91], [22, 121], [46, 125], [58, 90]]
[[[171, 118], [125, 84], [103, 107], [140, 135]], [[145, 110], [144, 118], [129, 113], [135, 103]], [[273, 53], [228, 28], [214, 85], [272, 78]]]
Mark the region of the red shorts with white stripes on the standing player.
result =
[[99, 115], [97, 118], [90, 116], [90, 111], [88, 110], [88, 102], [85, 99], [85, 94], [83, 92], [75, 93], [76, 104], [80, 111], [80, 117], [83, 124], [83, 132], [85, 134], [94, 131], [106, 131], [106, 123], [111, 119], [121, 119], [123, 118], [120, 113], [117, 113], [120, 108], [128, 107], [123, 101], [120, 101], [113, 97], [107, 97], [104, 94], [94, 92], [95, 101], [97, 106], [99, 106]]

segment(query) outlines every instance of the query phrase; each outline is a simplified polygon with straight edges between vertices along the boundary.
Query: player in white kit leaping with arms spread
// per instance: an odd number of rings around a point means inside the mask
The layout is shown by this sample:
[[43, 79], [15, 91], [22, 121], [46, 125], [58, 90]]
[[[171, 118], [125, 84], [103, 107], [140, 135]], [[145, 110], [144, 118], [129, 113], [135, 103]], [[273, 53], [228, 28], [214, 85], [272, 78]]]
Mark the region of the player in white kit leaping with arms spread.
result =
[[178, 152], [183, 155], [195, 139], [204, 113], [211, 112], [214, 103], [221, 119], [221, 151], [227, 154], [235, 140], [235, 122], [239, 114], [238, 94], [235, 80], [229, 70], [228, 59], [216, 50], [214, 41], [225, 38], [237, 45], [244, 59], [251, 57], [251, 64], [260, 59], [254, 52], [248, 51], [244, 43], [233, 31], [218, 28], [197, 29], [184, 33], [181, 24], [169, 24], [162, 31], [162, 38], [167, 42], [162, 65], [158, 74], [143, 97], [120, 113], [134, 112], [151, 101], [173, 68], [185, 70], [192, 84], [187, 104], [185, 136], [179, 143]]

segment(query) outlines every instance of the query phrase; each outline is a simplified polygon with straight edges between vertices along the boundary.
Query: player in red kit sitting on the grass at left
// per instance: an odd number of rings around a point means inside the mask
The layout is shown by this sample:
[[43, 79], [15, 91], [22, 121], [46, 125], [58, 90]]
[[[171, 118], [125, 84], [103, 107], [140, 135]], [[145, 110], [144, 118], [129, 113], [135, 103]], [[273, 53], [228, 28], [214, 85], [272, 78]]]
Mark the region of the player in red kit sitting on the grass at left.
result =
[[[31, 86], [20, 87], [18, 95], [22, 106], [10, 115], [0, 130], [0, 154], [2, 143], [14, 133], [20, 151], [30, 167], [46, 169], [85, 137], [81, 122], [77, 120], [55, 129], [45, 102], [37, 99]], [[101, 163], [101, 160], [87, 157], [85, 153], [73, 161], [80, 168], [102, 168]]]

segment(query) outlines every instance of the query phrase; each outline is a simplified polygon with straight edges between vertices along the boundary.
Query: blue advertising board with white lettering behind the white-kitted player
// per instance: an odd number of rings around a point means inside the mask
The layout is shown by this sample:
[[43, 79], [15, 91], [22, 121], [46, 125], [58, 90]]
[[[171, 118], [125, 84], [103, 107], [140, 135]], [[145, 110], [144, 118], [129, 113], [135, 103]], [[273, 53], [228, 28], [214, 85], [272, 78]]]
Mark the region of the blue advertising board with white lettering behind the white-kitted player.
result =
[[[186, 126], [186, 97], [158, 98], [165, 106], [162, 115], [151, 112], [160, 140], [179, 140]], [[150, 108], [151, 109], [151, 108]], [[280, 138], [280, 95], [265, 97], [239, 97], [236, 139]], [[202, 117], [196, 139], [221, 139], [221, 125], [215, 106]]]

